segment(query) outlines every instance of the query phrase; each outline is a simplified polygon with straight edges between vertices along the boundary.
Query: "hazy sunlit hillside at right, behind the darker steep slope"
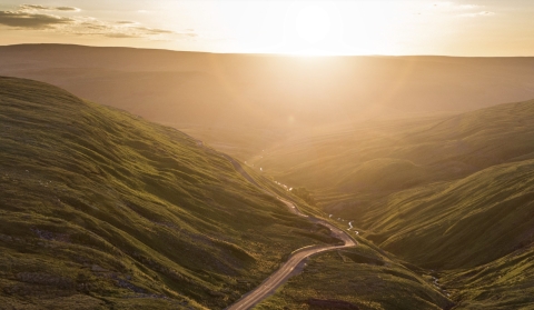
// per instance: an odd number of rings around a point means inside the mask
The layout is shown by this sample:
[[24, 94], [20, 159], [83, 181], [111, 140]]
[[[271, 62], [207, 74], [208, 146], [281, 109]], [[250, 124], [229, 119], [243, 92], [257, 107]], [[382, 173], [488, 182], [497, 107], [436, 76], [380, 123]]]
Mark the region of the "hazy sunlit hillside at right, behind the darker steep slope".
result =
[[452, 117], [293, 134], [248, 160], [275, 179], [349, 194], [395, 192], [534, 156], [534, 101]]

